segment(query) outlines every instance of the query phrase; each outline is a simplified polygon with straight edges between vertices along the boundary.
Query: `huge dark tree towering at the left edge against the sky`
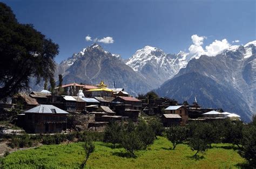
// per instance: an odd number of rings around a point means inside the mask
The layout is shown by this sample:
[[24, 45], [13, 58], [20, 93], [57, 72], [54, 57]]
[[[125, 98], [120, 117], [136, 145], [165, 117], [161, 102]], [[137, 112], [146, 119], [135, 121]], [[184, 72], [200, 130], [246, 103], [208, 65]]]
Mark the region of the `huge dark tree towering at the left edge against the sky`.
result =
[[53, 78], [58, 45], [33, 28], [18, 23], [9, 6], [0, 3], [0, 99], [29, 89], [30, 77], [37, 83]]

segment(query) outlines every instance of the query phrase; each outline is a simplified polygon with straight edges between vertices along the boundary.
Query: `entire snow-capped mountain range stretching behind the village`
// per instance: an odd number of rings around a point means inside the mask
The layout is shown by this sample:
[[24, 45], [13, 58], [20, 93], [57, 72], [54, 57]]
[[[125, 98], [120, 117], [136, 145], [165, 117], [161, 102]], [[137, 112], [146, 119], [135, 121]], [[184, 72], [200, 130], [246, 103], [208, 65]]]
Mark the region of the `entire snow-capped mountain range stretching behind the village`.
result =
[[95, 85], [104, 80], [132, 96], [154, 90], [180, 103], [192, 103], [196, 97], [203, 107], [222, 107], [248, 121], [256, 110], [255, 46], [256, 41], [234, 45], [214, 57], [145, 46], [124, 60], [95, 43], [57, 64], [56, 80], [59, 74], [63, 84]]

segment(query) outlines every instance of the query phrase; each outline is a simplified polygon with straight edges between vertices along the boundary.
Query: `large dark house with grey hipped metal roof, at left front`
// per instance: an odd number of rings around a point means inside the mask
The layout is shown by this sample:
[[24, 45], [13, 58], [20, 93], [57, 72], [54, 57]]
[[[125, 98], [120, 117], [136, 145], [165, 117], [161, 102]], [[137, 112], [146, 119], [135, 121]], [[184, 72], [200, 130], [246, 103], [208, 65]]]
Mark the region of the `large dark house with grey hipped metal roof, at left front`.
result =
[[18, 124], [30, 133], [56, 133], [66, 130], [68, 112], [53, 105], [39, 105], [18, 116]]

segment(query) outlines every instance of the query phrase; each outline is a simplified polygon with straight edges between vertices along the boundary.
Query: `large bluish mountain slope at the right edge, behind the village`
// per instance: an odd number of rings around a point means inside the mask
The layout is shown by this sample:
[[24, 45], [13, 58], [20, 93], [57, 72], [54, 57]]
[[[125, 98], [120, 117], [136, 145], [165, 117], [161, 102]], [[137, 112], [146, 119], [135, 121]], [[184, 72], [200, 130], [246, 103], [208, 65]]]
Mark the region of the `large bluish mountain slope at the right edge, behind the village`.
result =
[[179, 102], [193, 102], [197, 97], [203, 106], [223, 107], [249, 120], [256, 113], [255, 46], [253, 41], [231, 46], [215, 57], [192, 59], [156, 92]]

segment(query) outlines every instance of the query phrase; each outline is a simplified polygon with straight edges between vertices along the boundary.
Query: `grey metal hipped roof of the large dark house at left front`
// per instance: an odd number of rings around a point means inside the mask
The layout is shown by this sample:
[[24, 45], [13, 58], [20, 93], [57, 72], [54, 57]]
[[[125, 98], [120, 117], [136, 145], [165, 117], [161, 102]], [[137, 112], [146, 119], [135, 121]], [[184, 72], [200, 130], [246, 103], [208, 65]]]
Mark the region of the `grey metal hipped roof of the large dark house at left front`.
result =
[[25, 111], [24, 113], [57, 113], [57, 114], [68, 114], [68, 112], [59, 109], [56, 106], [53, 105], [39, 105], [36, 107], [33, 107], [30, 110]]

